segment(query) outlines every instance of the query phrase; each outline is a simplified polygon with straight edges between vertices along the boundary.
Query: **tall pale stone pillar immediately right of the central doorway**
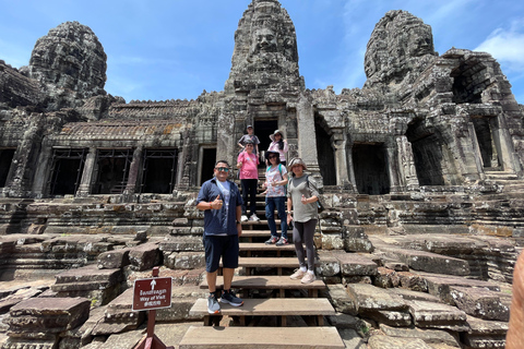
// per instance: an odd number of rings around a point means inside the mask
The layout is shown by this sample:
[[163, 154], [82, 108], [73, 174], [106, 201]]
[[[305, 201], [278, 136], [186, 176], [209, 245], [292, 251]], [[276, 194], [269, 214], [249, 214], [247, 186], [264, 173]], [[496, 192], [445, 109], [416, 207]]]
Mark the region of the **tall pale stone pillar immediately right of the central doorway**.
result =
[[319, 186], [322, 176], [317, 154], [317, 135], [314, 133], [314, 113], [311, 101], [302, 94], [297, 105], [298, 154], [313, 174]]

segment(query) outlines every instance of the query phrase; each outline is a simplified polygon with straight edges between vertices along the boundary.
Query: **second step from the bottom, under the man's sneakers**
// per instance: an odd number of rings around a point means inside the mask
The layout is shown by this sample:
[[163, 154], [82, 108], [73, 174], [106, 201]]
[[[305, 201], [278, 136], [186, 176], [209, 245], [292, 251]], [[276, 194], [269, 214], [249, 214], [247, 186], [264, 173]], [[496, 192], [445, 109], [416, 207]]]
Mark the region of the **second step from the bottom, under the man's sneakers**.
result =
[[[286, 317], [298, 316], [318, 316], [319, 326], [323, 325], [323, 316], [335, 315], [335, 310], [325, 298], [266, 298], [266, 299], [245, 299], [242, 306], [233, 306], [230, 304], [221, 304], [221, 315], [228, 316], [283, 316], [282, 325], [285, 326]], [[210, 325], [206, 317], [207, 299], [199, 299], [189, 311], [190, 316], [204, 316], [204, 323]], [[240, 323], [245, 323], [240, 318]]]

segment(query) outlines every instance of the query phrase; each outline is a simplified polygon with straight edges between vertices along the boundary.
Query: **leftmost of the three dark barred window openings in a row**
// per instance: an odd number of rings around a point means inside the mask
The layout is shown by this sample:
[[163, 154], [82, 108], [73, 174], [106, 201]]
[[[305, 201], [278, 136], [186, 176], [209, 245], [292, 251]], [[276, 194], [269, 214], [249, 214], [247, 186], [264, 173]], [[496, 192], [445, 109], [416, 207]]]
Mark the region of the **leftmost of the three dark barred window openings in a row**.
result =
[[50, 195], [74, 195], [82, 180], [87, 149], [53, 149]]

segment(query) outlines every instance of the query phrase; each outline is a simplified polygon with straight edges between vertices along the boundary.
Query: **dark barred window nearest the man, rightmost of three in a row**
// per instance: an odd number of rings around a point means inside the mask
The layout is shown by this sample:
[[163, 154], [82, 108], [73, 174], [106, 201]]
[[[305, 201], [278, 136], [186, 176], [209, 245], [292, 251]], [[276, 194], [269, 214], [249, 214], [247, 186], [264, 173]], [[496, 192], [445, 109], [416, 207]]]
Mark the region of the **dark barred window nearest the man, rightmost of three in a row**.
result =
[[172, 192], [177, 178], [177, 149], [145, 149], [142, 164], [141, 193]]

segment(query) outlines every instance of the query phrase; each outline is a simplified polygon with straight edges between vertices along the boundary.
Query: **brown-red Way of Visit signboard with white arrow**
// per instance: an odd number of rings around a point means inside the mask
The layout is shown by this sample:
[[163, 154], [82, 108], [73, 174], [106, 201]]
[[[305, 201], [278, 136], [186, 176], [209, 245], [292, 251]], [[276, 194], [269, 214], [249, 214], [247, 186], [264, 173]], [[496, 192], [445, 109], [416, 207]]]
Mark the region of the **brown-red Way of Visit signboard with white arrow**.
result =
[[171, 277], [134, 280], [133, 311], [171, 306]]

